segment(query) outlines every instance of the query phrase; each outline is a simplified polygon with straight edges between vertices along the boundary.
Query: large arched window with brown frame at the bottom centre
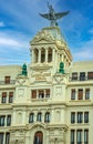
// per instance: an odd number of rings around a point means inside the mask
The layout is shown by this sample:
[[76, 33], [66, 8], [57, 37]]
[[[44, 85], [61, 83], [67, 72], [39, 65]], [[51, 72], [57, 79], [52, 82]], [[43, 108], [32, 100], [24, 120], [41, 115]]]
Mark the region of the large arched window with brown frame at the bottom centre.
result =
[[42, 132], [39, 131], [34, 134], [33, 144], [43, 144], [43, 133]]

